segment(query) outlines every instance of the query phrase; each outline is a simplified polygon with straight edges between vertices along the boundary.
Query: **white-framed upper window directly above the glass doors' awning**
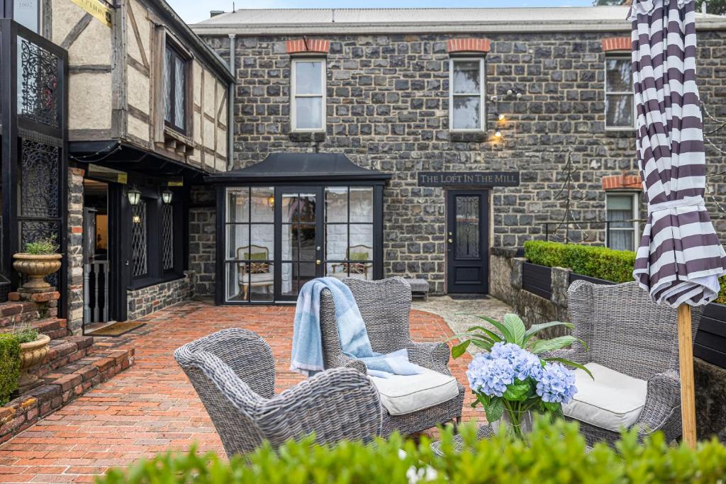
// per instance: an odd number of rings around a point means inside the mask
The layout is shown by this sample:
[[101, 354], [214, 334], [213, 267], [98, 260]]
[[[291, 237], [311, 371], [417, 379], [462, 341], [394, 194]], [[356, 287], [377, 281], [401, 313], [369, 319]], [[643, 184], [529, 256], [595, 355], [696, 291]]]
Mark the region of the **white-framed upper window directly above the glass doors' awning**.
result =
[[290, 126], [325, 131], [325, 59], [293, 59], [290, 70]]

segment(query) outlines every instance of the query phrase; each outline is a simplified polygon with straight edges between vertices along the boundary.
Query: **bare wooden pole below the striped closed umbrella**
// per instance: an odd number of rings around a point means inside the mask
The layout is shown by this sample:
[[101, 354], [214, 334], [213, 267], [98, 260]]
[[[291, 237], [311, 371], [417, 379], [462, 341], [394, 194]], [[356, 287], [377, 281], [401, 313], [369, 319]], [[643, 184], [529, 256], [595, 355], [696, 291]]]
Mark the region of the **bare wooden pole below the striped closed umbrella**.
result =
[[690, 305], [678, 306], [678, 357], [680, 358], [681, 419], [683, 441], [696, 448], [696, 386], [693, 383], [693, 336]]

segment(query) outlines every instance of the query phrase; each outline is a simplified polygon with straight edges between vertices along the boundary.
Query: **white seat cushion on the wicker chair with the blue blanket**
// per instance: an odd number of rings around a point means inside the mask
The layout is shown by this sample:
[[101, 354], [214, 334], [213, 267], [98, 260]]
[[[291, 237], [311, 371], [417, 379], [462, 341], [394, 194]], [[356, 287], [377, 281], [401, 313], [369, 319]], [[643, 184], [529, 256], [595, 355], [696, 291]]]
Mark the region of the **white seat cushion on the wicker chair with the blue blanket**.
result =
[[391, 415], [410, 414], [439, 405], [459, 395], [456, 378], [427, 369], [420, 374], [370, 377], [380, 403]]

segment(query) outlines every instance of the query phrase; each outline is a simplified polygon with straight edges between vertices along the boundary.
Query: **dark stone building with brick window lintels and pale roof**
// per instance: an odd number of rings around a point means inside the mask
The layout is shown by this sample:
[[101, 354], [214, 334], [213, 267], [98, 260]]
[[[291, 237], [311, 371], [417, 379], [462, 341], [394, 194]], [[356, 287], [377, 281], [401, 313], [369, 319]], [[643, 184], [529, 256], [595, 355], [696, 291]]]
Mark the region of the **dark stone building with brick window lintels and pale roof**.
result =
[[[378, 263], [386, 276], [428, 279], [438, 293], [487, 292], [489, 247], [567, 237], [632, 250], [644, 202], [626, 15], [627, 7], [239, 10], [193, 25], [232, 58], [236, 78], [234, 171], [209, 179], [220, 186], [217, 222], [227, 231], [216, 232], [224, 248], [200, 290], [216, 289], [220, 303], [284, 300], [290, 278], [332, 274], [335, 261], [354, 276], [372, 277], [364, 269]], [[697, 25], [703, 106], [724, 118], [726, 18], [698, 15]], [[310, 155], [305, 165], [258, 176], [268, 155], [295, 152]], [[311, 216], [312, 235], [295, 234], [288, 260], [290, 207], [325, 218], [344, 216], [335, 197], [356, 203], [354, 184], [306, 178], [327, 170], [316, 153], [390, 176], [380, 239]], [[710, 172], [725, 168], [719, 152], [708, 155]], [[291, 192], [296, 179], [303, 188]], [[725, 194], [722, 176], [710, 177], [711, 213]], [[256, 237], [248, 210], [264, 204], [277, 239]], [[211, 211], [199, 221], [195, 233], [211, 237]], [[240, 227], [245, 237], [235, 235]], [[349, 237], [343, 249], [340, 233]], [[198, 266], [214, 262], [208, 253]]]

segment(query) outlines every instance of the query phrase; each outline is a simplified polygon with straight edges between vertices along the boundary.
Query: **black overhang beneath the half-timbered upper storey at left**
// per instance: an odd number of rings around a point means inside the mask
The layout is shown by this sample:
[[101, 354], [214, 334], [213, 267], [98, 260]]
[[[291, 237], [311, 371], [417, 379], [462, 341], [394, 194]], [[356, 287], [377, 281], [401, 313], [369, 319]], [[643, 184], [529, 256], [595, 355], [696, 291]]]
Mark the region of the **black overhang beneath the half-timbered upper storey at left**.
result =
[[115, 140], [71, 141], [68, 144], [68, 155], [70, 160], [79, 163], [93, 163], [147, 176], [183, 176], [187, 181], [200, 181], [207, 174], [192, 165]]

